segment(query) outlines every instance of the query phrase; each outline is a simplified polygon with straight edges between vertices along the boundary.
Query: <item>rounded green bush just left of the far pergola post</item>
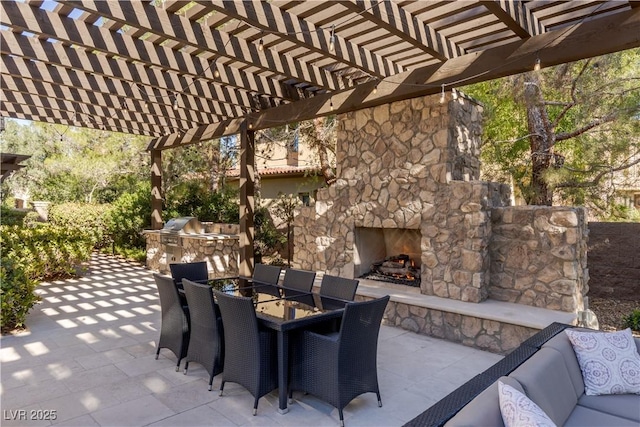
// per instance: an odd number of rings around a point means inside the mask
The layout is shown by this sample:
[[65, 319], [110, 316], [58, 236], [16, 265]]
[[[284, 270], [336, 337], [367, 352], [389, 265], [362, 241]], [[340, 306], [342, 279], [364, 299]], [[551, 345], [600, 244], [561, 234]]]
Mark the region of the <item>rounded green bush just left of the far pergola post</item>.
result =
[[144, 248], [142, 231], [151, 225], [151, 184], [140, 182], [136, 191], [125, 193], [112, 204], [105, 221], [116, 246]]

